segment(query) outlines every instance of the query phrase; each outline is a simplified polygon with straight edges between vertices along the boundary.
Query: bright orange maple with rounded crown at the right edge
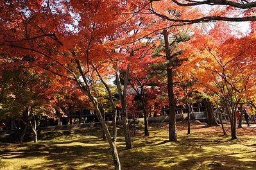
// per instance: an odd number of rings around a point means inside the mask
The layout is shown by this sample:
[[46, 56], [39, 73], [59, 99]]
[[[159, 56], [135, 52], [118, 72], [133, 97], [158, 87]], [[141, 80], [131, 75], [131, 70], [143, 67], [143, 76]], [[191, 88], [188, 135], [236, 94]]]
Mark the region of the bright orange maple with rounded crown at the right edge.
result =
[[[225, 33], [219, 36], [219, 29]], [[220, 22], [209, 35], [198, 36], [193, 43], [196, 45], [191, 64], [194, 75], [201, 86], [215, 93], [223, 101], [225, 112], [230, 118], [232, 139], [236, 139], [236, 115], [239, 105], [248, 102], [254, 96], [255, 75], [253, 67], [255, 58], [255, 36], [235, 37], [228, 26]], [[196, 53], [195, 53], [196, 52]]]

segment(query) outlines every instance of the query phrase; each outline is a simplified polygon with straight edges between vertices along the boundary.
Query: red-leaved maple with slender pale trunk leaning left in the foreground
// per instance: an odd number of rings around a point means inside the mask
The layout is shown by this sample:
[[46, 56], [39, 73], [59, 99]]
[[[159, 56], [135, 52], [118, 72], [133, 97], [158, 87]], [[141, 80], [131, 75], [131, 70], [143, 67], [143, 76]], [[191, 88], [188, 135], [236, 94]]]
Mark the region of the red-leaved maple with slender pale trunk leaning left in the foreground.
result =
[[[129, 6], [123, 2], [35, 1], [1, 2], [0, 51], [10, 58], [30, 55], [37, 68], [46, 69], [61, 78], [77, 83], [99, 117], [107, 135], [115, 169], [121, 169], [115, 141], [99, 109], [93, 85], [97, 75], [91, 64], [104, 62], [116, 47], [106, 37], [118, 35], [124, 29]], [[129, 26], [125, 26], [129, 29]], [[5, 58], [5, 56], [4, 56]]]

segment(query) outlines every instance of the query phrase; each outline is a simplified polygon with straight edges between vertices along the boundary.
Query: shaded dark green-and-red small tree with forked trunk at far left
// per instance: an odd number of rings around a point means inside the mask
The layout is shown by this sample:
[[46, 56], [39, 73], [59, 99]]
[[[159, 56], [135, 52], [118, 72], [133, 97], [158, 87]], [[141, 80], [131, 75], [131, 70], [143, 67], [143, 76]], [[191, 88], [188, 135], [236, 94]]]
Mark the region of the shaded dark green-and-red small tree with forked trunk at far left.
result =
[[29, 69], [22, 70], [22, 66], [13, 71], [3, 71], [0, 87], [0, 102], [3, 106], [0, 115], [3, 119], [14, 117], [23, 122], [21, 142], [29, 126], [33, 130], [34, 142], [37, 142], [36, 117], [54, 116], [51, 105], [53, 94], [47, 93], [50, 83], [47, 74], [38, 74]]

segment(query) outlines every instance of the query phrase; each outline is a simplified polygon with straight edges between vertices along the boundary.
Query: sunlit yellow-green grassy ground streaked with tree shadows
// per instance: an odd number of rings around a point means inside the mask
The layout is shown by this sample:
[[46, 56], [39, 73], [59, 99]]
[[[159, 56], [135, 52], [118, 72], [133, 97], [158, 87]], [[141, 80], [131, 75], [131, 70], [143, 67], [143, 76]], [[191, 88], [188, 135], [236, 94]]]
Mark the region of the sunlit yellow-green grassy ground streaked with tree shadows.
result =
[[[167, 142], [167, 124], [151, 126], [150, 136], [137, 132], [134, 148], [117, 147], [122, 169], [256, 169], [256, 128], [244, 127], [238, 139], [221, 136], [220, 127], [178, 123], [178, 142]], [[0, 144], [0, 169], [113, 169], [101, 130], [71, 130], [42, 134], [38, 144]]]

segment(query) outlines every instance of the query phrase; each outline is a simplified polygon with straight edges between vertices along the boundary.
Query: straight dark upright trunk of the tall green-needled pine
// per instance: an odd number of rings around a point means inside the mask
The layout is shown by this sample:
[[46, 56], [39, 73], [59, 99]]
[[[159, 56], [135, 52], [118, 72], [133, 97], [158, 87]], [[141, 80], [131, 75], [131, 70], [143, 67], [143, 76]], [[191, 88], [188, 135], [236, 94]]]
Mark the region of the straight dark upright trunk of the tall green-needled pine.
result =
[[[166, 47], [166, 58], [167, 60], [171, 60], [171, 52], [169, 50], [169, 38], [167, 30], [164, 30], [163, 34]], [[169, 141], [177, 141], [175, 119], [175, 96], [173, 92], [173, 69], [171, 67], [167, 68], [167, 89], [169, 100]]]

